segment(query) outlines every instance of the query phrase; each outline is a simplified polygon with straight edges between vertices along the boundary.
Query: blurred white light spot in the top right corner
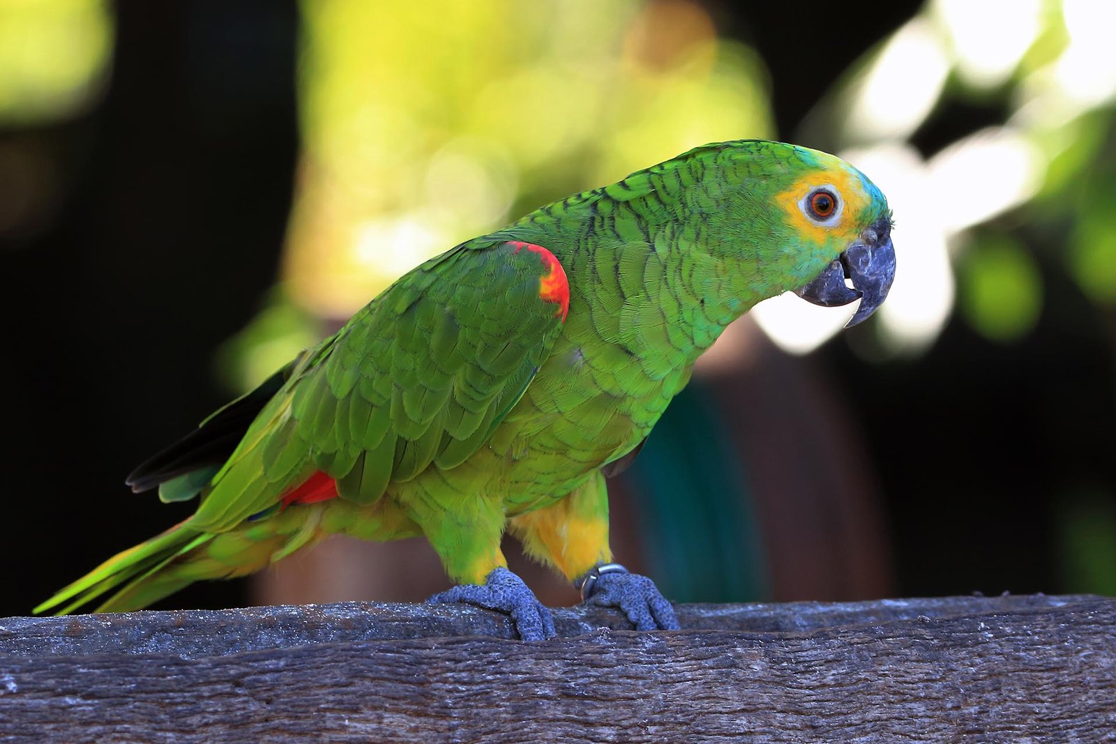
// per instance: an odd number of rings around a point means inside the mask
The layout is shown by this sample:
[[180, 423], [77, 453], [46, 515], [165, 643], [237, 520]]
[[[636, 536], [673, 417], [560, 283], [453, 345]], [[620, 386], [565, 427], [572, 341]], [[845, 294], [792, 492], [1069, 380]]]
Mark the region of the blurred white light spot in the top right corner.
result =
[[1057, 86], [1068, 97], [1095, 106], [1116, 95], [1116, 2], [1064, 0], [1069, 46], [1054, 66]]

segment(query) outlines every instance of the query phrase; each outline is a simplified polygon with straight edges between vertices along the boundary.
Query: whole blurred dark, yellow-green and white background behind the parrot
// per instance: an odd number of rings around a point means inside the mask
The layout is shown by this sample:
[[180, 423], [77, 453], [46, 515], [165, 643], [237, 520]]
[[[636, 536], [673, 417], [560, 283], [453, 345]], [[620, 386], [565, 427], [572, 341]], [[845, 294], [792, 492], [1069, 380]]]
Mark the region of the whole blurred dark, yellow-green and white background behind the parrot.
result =
[[[0, 1], [0, 615], [183, 519], [124, 475], [421, 259], [692, 146], [864, 170], [873, 320], [730, 328], [612, 483], [684, 601], [1116, 595], [1116, 4]], [[551, 603], [576, 595], [512, 568]], [[420, 599], [334, 539], [162, 607]]]

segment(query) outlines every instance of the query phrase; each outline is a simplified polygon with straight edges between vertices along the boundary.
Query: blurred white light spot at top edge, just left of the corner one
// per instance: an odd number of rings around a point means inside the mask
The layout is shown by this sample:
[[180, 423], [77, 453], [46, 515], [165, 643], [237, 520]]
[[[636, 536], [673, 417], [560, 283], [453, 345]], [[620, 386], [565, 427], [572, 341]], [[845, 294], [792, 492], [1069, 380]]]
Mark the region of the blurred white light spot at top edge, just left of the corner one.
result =
[[1002, 0], [936, 0], [933, 9], [949, 29], [958, 73], [992, 87], [1008, 79], [1035, 42], [1042, 2], [1013, 0], [1006, 11]]

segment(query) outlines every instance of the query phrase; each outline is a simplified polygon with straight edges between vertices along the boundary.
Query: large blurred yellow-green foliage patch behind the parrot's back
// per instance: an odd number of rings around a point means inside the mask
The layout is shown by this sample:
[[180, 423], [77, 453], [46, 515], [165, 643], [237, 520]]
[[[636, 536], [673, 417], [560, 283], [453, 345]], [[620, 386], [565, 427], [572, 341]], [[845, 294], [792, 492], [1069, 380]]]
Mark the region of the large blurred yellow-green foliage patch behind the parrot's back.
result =
[[285, 281], [348, 317], [423, 259], [693, 145], [770, 136], [762, 62], [695, 2], [304, 2]]

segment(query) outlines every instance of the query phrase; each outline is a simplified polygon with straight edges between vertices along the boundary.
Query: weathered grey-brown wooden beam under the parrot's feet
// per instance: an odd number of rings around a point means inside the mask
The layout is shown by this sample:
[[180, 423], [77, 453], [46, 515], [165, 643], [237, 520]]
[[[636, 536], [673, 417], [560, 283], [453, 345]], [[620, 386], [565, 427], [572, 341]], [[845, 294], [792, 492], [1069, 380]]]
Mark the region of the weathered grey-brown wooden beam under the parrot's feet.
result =
[[679, 610], [559, 610], [537, 644], [455, 606], [0, 619], [0, 738], [1116, 741], [1116, 599]]

